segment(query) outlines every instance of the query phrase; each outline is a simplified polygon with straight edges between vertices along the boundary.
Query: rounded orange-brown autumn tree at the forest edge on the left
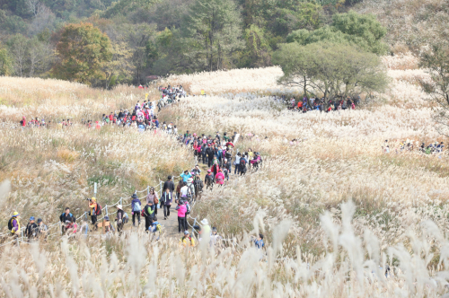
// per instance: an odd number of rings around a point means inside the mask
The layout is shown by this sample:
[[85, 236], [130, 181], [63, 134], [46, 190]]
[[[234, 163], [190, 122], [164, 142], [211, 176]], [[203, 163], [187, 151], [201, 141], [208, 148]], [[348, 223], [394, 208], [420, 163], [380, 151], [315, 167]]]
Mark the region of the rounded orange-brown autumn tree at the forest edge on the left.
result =
[[91, 23], [68, 24], [57, 43], [57, 57], [55, 77], [92, 84], [106, 77], [102, 67], [112, 57], [110, 39]]

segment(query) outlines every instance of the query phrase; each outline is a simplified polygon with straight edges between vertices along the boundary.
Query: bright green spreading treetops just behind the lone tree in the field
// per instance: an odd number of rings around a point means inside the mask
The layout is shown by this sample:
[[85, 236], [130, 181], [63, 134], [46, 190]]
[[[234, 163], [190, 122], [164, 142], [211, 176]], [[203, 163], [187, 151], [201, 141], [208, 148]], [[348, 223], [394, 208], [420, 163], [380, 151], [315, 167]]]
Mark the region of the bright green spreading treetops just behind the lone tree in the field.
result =
[[337, 13], [330, 26], [324, 26], [314, 31], [306, 29], [293, 31], [286, 41], [308, 45], [318, 41], [346, 43], [356, 45], [365, 51], [383, 55], [388, 50], [383, 42], [386, 29], [377, 22], [373, 14]]

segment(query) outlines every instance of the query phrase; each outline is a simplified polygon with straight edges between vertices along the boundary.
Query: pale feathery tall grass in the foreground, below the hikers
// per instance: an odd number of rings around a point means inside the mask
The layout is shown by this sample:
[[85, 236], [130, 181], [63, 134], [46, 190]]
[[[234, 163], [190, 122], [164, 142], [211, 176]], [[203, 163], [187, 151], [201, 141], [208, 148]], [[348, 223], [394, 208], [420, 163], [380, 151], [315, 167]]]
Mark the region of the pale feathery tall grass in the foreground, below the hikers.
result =
[[[449, 242], [435, 223], [421, 223], [406, 241], [381, 249], [382, 239], [351, 223], [321, 215], [320, 256], [299, 246], [285, 255], [291, 222], [277, 223], [267, 250], [242, 237], [239, 245], [182, 248], [149, 241], [142, 232], [107, 240], [58, 241], [3, 248], [5, 297], [431, 297], [447, 292]], [[439, 261], [432, 263], [439, 254]], [[389, 268], [389, 269], [388, 269]]]

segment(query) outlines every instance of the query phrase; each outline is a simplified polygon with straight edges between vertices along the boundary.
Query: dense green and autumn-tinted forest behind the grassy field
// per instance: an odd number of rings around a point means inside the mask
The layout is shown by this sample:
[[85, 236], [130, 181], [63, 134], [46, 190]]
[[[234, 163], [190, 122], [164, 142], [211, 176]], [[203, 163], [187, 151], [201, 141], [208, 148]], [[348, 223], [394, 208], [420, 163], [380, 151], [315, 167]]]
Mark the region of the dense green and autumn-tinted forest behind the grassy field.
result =
[[352, 10], [357, 2], [0, 0], [0, 75], [109, 89], [167, 74], [272, 66], [287, 43], [387, 54], [386, 29], [374, 14]]

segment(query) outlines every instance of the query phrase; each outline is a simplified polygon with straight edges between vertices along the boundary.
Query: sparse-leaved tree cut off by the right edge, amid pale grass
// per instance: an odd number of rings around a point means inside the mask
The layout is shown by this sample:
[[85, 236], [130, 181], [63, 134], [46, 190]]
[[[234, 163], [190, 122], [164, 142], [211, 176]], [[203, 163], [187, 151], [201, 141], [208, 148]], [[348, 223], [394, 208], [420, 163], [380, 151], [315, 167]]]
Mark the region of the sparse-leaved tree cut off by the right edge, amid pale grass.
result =
[[420, 80], [420, 84], [435, 103], [436, 129], [449, 136], [449, 42], [441, 39], [433, 43], [420, 58], [419, 66], [430, 75], [430, 80]]

